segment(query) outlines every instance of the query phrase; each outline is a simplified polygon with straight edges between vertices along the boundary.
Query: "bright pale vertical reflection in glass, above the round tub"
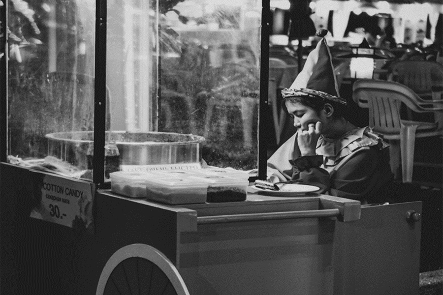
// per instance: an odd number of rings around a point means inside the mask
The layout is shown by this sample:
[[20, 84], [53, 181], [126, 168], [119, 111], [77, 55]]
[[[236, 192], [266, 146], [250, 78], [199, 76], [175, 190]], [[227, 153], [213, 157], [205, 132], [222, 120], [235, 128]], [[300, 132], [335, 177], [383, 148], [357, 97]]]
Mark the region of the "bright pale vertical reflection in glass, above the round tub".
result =
[[111, 130], [154, 130], [155, 4], [148, 0], [109, 2], [106, 83], [112, 96]]

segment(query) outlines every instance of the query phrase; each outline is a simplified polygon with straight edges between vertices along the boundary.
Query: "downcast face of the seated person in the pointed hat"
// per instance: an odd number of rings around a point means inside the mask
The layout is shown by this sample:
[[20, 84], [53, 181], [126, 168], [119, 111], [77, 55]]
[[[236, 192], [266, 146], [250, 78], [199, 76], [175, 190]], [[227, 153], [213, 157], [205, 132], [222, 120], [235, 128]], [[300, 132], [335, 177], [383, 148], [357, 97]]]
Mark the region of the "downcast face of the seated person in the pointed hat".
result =
[[[294, 126], [297, 129], [308, 130], [308, 124], [320, 121], [325, 124], [325, 117], [323, 110], [320, 112], [320, 115], [316, 113], [313, 108], [307, 107], [299, 102], [290, 102], [286, 101], [287, 112], [294, 119]], [[322, 118], [323, 117], [323, 118]]]

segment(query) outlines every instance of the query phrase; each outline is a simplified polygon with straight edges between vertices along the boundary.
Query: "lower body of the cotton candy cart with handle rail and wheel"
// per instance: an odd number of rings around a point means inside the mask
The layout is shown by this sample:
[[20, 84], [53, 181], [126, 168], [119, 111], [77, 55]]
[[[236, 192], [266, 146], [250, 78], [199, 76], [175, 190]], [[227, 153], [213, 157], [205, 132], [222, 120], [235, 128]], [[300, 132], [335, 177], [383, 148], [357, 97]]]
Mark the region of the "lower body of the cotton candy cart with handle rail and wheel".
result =
[[99, 190], [94, 232], [29, 217], [1, 163], [5, 294], [417, 294], [421, 203], [326, 195], [168, 206]]

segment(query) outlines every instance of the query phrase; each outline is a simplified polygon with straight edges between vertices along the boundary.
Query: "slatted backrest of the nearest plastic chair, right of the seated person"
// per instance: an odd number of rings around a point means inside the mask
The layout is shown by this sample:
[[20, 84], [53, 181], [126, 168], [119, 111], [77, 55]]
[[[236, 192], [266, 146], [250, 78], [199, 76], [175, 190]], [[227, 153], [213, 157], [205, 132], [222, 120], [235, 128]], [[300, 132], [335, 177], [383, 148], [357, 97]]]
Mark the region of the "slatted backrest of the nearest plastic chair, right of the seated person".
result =
[[384, 135], [400, 133], [400, 105], [419, 112], [417, 95], [408, 87], [396, 82], [361, 79], [355, 81], [353, 99], [369, 109], [369, 126]]

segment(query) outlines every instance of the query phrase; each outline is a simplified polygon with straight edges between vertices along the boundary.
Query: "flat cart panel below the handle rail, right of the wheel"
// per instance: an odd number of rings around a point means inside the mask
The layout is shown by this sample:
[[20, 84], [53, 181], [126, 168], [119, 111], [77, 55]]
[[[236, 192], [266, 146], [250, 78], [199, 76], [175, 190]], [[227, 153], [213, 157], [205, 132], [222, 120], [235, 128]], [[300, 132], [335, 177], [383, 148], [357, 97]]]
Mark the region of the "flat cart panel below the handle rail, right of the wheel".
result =
[[181, 235], [180, 273], [191, 294], [332, 294], [335, 224], [303, 218], [199, 225]]

